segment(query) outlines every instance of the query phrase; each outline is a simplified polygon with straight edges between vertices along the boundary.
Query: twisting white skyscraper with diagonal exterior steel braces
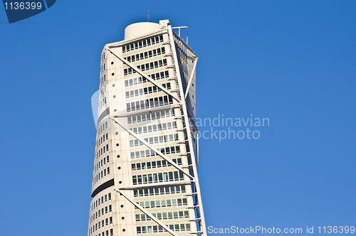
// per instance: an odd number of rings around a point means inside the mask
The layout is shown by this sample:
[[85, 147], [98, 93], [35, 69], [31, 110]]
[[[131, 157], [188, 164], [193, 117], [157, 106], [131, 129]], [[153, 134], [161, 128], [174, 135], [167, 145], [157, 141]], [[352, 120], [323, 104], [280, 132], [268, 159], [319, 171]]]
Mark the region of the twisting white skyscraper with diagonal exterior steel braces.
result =
[[168, 20], [134, 23], [105, 45], [88, 235], [206, 235], [197, 60]]

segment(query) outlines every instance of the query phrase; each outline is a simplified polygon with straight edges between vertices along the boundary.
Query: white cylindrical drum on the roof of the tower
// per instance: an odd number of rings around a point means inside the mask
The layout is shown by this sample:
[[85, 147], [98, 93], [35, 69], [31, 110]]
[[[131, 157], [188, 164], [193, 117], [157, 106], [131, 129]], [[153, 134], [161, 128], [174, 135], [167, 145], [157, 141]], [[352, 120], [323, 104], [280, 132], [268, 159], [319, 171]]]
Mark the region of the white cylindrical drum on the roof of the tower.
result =
[[161, 27], [159, 23], [153, 22], [140, 22], [132, 23], [130, 26], [125, 28], [125, 40], [131, 38], [137, 38], [138, 36], [143, 36], [148, 33], [159, 31]]

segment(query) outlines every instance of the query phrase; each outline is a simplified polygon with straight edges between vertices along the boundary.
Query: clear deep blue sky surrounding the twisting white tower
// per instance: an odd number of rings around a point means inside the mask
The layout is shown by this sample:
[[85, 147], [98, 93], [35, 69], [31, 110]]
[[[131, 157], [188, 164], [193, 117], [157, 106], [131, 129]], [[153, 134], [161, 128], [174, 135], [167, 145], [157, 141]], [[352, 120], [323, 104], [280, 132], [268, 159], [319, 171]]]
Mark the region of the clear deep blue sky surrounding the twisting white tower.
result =
[[86, 235], [100, 53], [147, 11], [189, 26], [197, 117], [269, 119], [200, 140], [206, 225], [355, 226], [355, 1], [57, 1], [0, 7], [1, 235]]

